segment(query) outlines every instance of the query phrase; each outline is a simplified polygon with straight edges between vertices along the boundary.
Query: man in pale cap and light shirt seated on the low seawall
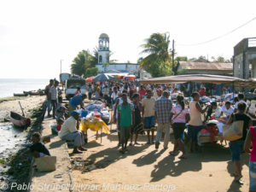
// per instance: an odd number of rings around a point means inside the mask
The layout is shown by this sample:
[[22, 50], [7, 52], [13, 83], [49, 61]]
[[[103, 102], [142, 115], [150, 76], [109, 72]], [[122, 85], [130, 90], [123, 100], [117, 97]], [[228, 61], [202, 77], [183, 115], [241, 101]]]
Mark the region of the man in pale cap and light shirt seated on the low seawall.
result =
[[64, 141], [73, 140], [73, 154], [81, 154], [82, 151], [87, 150], [83, 147], [84, 136], [79, 131], [79, 113], [77, 111], [73, 111], [71, 116], [61, 126], [59, 137]]

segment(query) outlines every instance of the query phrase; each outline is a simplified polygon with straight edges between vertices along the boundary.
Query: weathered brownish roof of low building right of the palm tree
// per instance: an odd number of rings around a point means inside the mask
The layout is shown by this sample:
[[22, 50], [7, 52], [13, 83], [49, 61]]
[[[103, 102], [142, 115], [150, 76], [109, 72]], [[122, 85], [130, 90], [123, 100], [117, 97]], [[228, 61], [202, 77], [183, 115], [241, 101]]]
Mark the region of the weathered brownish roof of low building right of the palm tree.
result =
[[180, 61], [180, 65], [182, 68], [190, 70], [233, 70], [233, 63]]

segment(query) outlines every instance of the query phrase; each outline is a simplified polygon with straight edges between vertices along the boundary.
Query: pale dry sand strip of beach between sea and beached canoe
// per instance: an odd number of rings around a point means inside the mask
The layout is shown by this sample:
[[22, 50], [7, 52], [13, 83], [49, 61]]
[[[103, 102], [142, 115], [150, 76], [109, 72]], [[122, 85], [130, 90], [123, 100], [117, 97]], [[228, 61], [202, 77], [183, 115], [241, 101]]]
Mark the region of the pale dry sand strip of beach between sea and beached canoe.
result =
[[19, 102], [24, 110], [24, 113], [28, 115], [29, 109], [37, 108], [41, 103], [45, 100], [45, 96], [27, 96], [26, 99], [22, 100], [15, 100], [9, 102], [1, 102], [0, 103], [0, 118], [9, 117], [9, 112], [14, 111], [16, 113], [20, 113], [20, 105]]

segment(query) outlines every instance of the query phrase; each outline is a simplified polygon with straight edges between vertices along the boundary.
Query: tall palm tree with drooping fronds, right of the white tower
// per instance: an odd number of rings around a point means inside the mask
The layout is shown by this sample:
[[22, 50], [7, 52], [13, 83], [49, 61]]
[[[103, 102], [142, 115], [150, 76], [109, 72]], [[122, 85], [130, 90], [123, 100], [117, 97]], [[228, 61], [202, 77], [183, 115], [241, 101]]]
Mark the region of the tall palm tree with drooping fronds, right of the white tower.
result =
[[148, 54], [142, 61], [142, 67], [151, 66], [155, 61], [170, 61], [170, 36], [167, 33], [153, 33], [145, 39], [142, 54]]

